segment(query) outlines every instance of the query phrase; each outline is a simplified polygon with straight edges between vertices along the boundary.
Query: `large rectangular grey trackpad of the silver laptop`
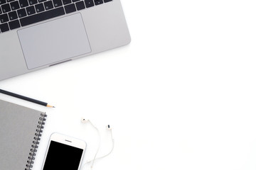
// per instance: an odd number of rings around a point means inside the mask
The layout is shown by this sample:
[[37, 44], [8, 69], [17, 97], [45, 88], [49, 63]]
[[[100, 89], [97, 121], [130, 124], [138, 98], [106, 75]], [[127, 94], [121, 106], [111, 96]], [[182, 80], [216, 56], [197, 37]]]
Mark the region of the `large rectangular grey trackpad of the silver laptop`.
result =
[[80, 13], [18, 30], [28, 69], [91, 52]]

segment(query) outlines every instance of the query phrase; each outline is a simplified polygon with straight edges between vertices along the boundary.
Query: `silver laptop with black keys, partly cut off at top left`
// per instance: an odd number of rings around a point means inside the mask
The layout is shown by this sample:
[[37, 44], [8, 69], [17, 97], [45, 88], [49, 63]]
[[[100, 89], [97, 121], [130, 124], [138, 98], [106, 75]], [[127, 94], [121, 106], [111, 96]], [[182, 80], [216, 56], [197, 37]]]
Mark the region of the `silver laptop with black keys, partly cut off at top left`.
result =
[[120, 0], [0, 0], [0, 80], [129, 42]]

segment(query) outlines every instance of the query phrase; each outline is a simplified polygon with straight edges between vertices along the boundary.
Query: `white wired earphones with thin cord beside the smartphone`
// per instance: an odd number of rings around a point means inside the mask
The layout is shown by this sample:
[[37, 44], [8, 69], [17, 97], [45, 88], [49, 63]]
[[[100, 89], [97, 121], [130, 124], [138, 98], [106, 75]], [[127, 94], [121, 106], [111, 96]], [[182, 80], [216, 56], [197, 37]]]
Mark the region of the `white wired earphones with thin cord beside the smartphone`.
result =
[[[98, 148], [97, 148], [97, 152], [98, 152], [99, 149], [100, 149], [100, 131], [98, 130], [98, 128], [97, 128], [95, 125], [92, 124], [92, 122], [91, 122], [89, 119], [81, 118], [81, 123], [90, 123], [90, 125], [92, 125], [92, 127], [95, 128], [95, 130], [97, 130], [97, 134], [98, 134], [98, 136], [99, 136], [99, 145], [98, 145]], [[95, 162], [96, 159], [102, 159], [102, 158], [104, 158], [104, 157], [107, 157], [108, 155], [110, 155], [110, 154], [112, 153], [112, 151], [113, 151], [113, 149], [114, 149], [114, 139], [113, 139], [113, 136], [112, 136], [112, 128], [110, 127], [110, 125], [107, 125], [106, 128], [107, 128], [107, 130], [110, 130], [110, 133], [111, 133], [111, 137], [112, 137], [112, 149], [111, 149], [110, 152], [108, 152], [107, 154], [105, 154], [105, 155], [103, 155], [103, 156], [101, 156], [101, 157], [97, 157], [97, 158], [96, 158], [96, 156], [97, 156], [97, 152], [96, 152], [96, 153], [95, 153], [95, 157], [94, 157], [92, 160], [85, 162], [85, 164], [89, 164], [90, 162], [92, 162], [92, 165], [90, 166], [91, 169], [92, 169], [92, 166], [93, 166], [93, 164], [94, 164], [94, 162]], [[82, 167], [85, 166], [85, 164], [83, 164]], [[82, 169], [82, 168], [81, 168], [81, 169]]]

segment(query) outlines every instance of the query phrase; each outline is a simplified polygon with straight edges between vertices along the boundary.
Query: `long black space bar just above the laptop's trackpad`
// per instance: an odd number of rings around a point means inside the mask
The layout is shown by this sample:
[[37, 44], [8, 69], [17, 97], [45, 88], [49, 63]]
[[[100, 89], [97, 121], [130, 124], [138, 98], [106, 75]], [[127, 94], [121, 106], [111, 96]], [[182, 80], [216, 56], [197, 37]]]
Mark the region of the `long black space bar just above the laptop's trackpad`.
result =
[[63, 7], [60, 8], [54, 8], [49, 11], [45, 11], [43, 13], [37, 13], [36, 15], [33, 16], [27, 16], [24, 18], [21, 18], [21, 26], [28, 26], [32, 23], [38, 23], [40, 21], [45, 21], [50, 18], [55, 18], [57, 16], [63, 16], [65, 15], [65, 11]]

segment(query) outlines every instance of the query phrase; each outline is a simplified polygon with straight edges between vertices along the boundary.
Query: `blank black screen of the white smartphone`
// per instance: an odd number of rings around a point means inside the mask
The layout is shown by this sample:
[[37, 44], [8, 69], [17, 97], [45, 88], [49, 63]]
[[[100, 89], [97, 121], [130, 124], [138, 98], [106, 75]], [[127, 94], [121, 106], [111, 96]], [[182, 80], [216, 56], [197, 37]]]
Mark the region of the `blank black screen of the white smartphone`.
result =
[[82, 158], [82, 149], [59, 142], [50, 141], [43, 170], [78, 170]]

